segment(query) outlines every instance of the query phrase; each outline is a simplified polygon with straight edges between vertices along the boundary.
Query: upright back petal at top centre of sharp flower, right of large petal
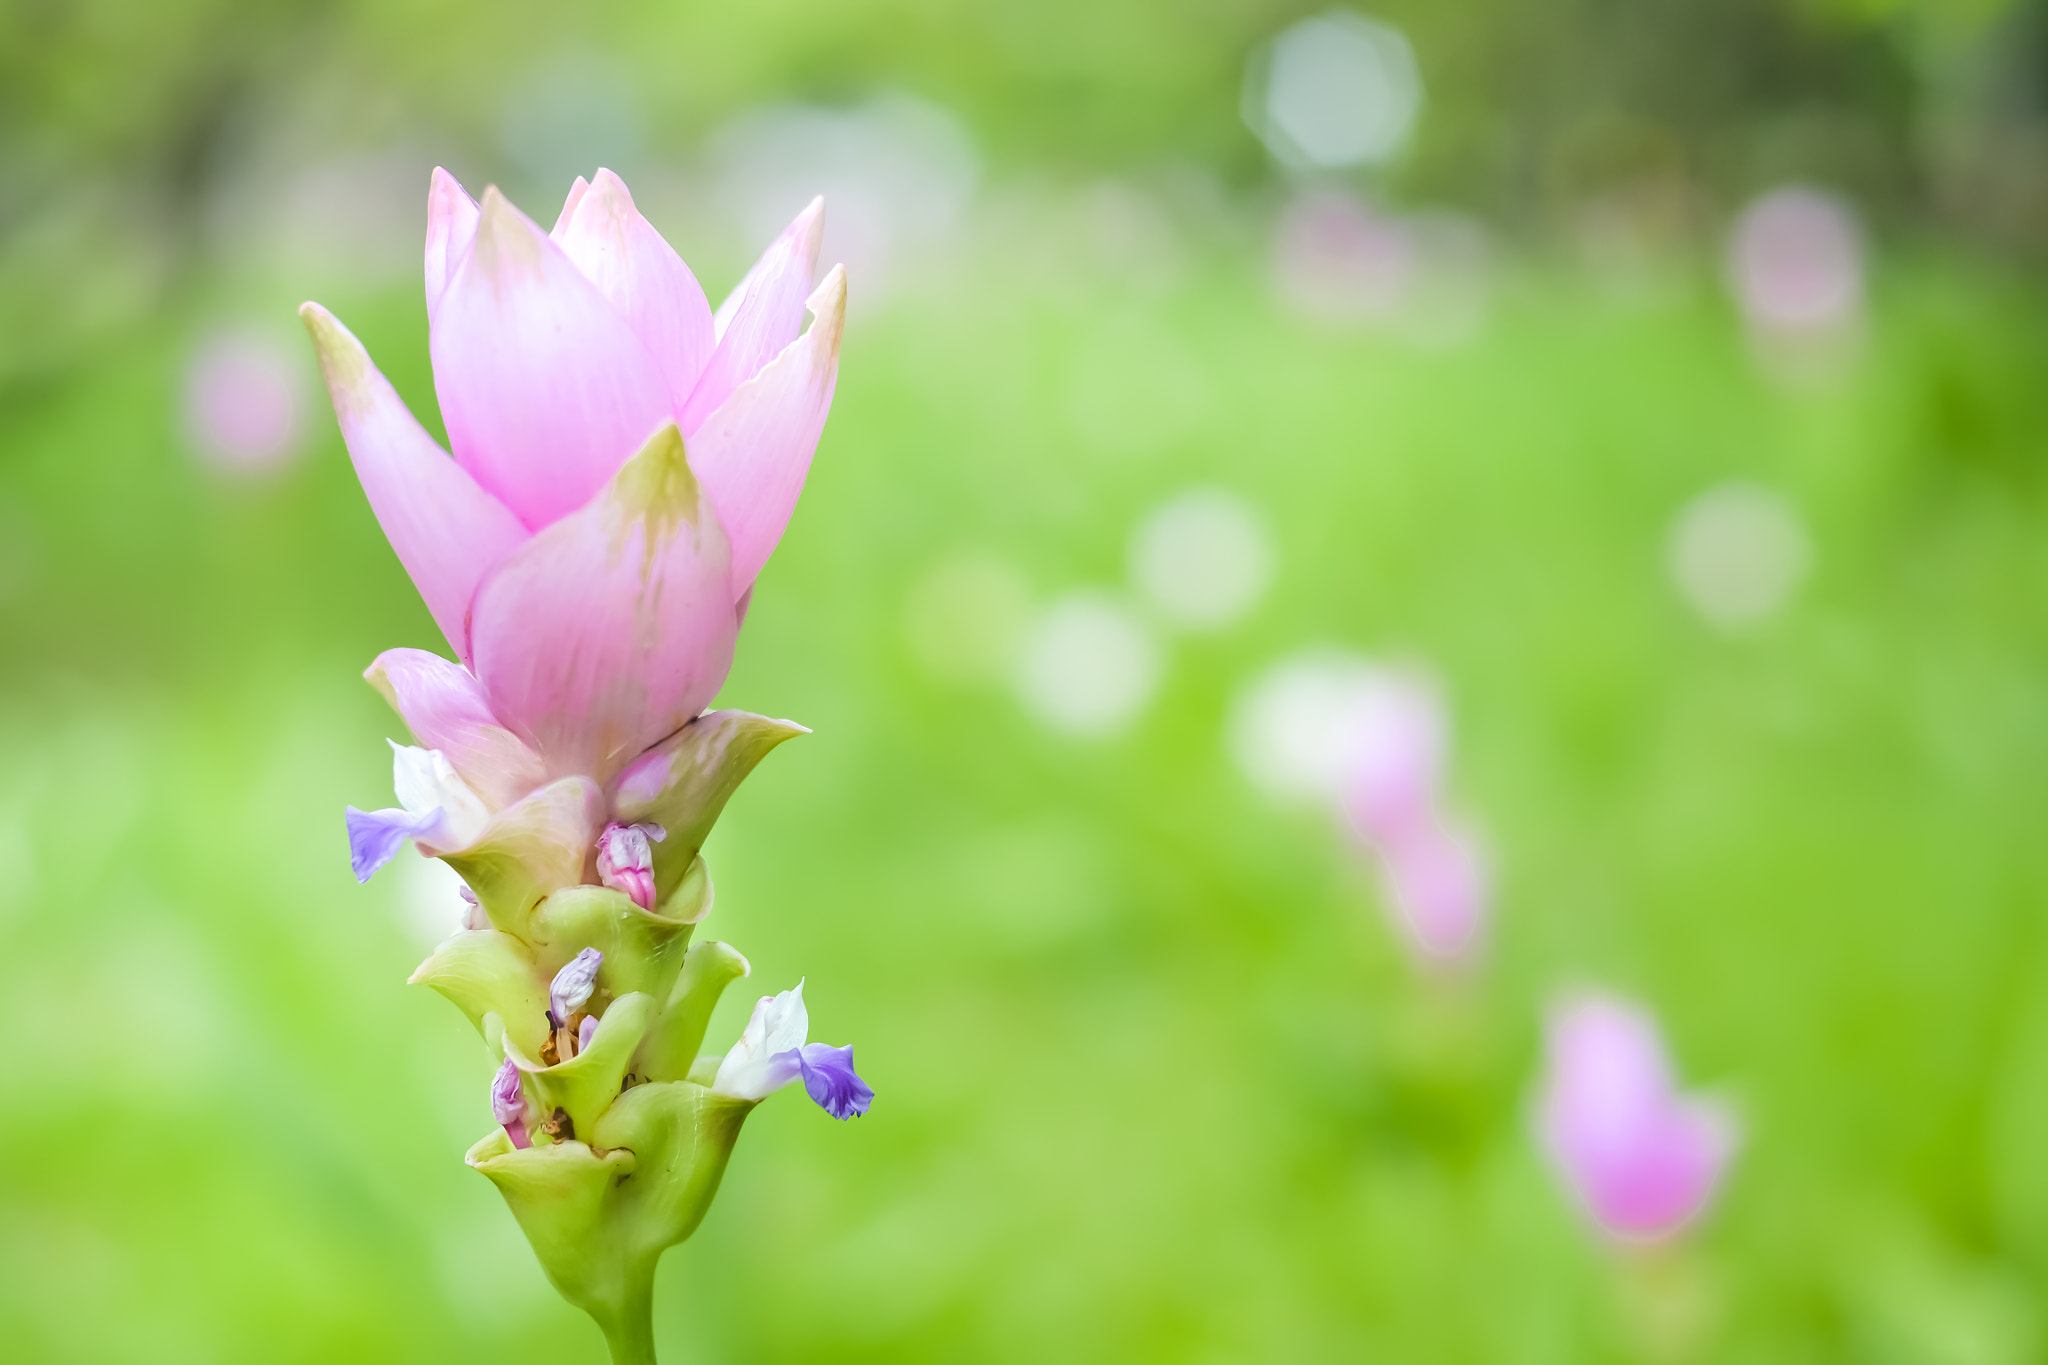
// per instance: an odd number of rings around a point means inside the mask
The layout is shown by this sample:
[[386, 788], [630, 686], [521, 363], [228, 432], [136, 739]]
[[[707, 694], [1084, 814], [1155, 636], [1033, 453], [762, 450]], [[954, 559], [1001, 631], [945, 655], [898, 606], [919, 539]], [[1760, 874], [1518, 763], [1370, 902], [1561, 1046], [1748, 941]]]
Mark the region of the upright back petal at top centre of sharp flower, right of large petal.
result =
[[[582, 184], [582, 182], [578, 182]], [[553, 237], [653, 352], [674, 411], [711, 360], [711, 305], [696, 276], [633, 207], [627, 182], [600, 170], [588, 192], [569, 192]]]

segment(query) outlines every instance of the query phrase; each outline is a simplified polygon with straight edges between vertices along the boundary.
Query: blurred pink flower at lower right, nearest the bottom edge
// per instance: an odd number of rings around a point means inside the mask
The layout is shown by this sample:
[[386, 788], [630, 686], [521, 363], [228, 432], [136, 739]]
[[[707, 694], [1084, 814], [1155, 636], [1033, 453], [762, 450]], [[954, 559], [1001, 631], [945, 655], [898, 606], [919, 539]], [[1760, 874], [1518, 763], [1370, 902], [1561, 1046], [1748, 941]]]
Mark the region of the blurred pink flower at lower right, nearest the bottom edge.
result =
[[1550, 1160], [1593, 1222], [1636, 1242], [1698, 1216], [1735, 1148], [1720, 1105], [1677, 1093], [1651, 1015], [1612, 997], [1550, 1011], [1538, 1121]]

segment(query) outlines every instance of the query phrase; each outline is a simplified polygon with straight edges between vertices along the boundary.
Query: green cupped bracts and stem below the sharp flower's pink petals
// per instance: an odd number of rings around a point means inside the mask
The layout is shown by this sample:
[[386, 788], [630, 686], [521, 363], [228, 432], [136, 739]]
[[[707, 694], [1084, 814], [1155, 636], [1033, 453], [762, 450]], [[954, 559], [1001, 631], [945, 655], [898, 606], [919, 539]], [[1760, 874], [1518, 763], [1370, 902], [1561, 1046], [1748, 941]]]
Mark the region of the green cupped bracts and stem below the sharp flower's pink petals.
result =
[[[702, 1222], [756, 1103], [713, 1093], [719, 1058], [698, 1056], [713, 1007], [748, 974], [727, 943], [692, 941], [713, 902], [698, 849], [754, 765], [803, 733], [707, 714], [635, 763], [610, 802], [594, 782], [563, 778], [500, 810], [471, 847], [442, 853], [489, 927], [449, 937], [412, 980], [449, 997], [518, 1066], [532, 1138], [520, 1148], [498, 1130], [467, 1162], [504, 1195], [549, 1281], [596, 1318], [614, 1361], [653, 1361], [655, 1263]], [[584, 880], [606, 804], [621, 823], [670, 831], [655, 843], [659, 913]], [[578, 1017], [596, 1029], [567, 1056], [555, 1025], [571, 1021], [551, 1021], [549, 982], [592, 948], [602, 964]]]

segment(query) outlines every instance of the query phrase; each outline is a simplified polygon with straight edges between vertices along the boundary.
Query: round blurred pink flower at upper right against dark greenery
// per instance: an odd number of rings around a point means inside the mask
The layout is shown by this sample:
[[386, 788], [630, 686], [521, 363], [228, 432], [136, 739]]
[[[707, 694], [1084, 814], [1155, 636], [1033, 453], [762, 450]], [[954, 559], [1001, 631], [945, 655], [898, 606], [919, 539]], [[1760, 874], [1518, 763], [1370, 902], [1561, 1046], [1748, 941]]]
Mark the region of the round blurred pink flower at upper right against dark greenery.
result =
[[1864, 237], [1833, 194], [1788, 186], [1743, 209], [1729, 244], [1729, 287], [1761, 334], [1853, 325], [1864, 303]]

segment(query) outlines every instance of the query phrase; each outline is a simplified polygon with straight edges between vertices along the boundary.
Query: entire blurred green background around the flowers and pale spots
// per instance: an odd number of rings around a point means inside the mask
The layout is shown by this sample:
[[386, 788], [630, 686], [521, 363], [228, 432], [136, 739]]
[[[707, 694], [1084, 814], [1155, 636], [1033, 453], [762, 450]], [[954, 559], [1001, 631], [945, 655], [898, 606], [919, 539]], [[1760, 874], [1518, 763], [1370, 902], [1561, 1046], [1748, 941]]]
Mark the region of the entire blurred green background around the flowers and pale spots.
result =
[[[2048, 1353], [2048, 8], [1372, 4], [1413, 133], [1305, 172], [1245, 82], [1315, 8], [0, 2], [6, 1359], [602, 1355], [461, 1164], [492, 1060], [403, 984], [446, 888], [344, 855], [403, 737], [358, 671], [442, 645], [291, 309], [440, 430], [434, 164], [543, 223], [608, 164], [713, 299], [825, 188], [854, 268], [721, 698], [817, 733], [707, 855], [879, 1101], [748, 1124], [664, 1359]], [[1794, 182], [1864, 293], [1782, 344], [1724, 262]], [[223, 336], [297, 393], [240, 458]], [[1729, 481], [1810, 565], [1745, 620], [1669, 569]], [[1212, 632], [1130, 587], [1190, 487], [1274, 561]], [[1087, 735], [1016, 681], [1075, 591], [1155, 665]], [[1464, 972], [1231, 759], [1311, 647], [1444, 679]], [[1530, 1138], [1573, 982], [1743, 1115], [1655, 1252]]]

